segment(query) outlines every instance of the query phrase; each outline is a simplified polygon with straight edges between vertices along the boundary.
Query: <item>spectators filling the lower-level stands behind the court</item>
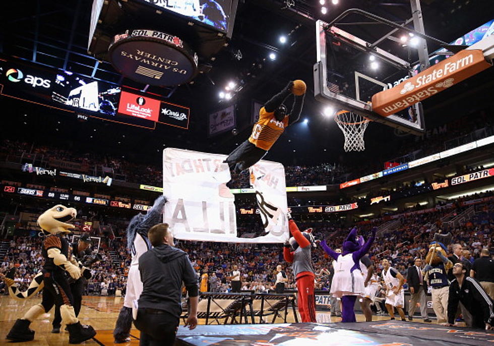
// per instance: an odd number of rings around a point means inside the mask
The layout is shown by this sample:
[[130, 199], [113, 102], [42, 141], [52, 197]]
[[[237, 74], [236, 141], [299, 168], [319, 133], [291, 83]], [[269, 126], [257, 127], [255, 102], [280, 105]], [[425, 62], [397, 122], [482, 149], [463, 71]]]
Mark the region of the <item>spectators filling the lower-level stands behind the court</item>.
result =
[[[455, 225], [442, 224], [445, 216], [457, 215], [466, 208], [475, 208], [474, 216]], [[438, 229], [450, 231], [454, 243], [463, 247], [464, 258], [473, 261], [479, 256], [482, 248], [493, 249], [494, 233], [494, 198], [492, 191], [460, 198], [444, 207], [427, 210], [408, 210], [406, 214], [396, 217], [399, 224], [378, 234], [378, 241], [370, 250], [369, 257], [374, 261], [378, 273], [382, 266], [381, 260], [391, 260], [392, 266], [406, 277], [407, 268], [415, 257], [425, 258], [428, 244]], [[370, 228], [389, 221], [385, 216], [372, 221], [357, 224], [359, 233], [366, 237]], [[330, 222], [303, 221], [297, 219], [299, 228], [314, 227], [317, 239], [325, 239], [329, 246], [337, 249], [341, 246], [348, 233], [348, 227]], [[89, 281], [87, 293], [98, 295], [114, 295], [117, 290], [125, 295], [126, 275], [130, 265], [129, 251], [126, 249], [125, 227], [122, 223], [114, 227], [115, 237], [101, 238], [99, 253], [103, 261], [92, 268], [93, 277]], [[97, 236], [93, 233], [92, 236]], [[42, 264], [40, 246], [42, 239], [37, 234], [31, 237], [17, 236], [10, 240], [9, 248], [0, 264], [0, 272], [4, 273], [12, 266], [17, 268], [16, 281], [27, 288]], [[95, 249], [94, 243], [93, 249]], [[211, 242], [177, 241], [176, 247], [188, 252], [198, 276], [209, 275], [209, 290], [227, 292], [231, 289], [228, 276], [233, 265], [238, 265], [242, 276], [244, 290], [267, 292], [273, 289], [276, 266], [282, 264], [286, 270], [288, 290], [294, 289], [294, 279], [290, 265], [285, 263], [281, 245], [275, 244], [227, 244]], [[313, 251], [313, 264], [317, 275], [316, 287], [329, 290], [331, 278], [326, 270], [331, 259], [321, 249]], [[5, 284], [0, 285], [0, 292], [6, 293]]]

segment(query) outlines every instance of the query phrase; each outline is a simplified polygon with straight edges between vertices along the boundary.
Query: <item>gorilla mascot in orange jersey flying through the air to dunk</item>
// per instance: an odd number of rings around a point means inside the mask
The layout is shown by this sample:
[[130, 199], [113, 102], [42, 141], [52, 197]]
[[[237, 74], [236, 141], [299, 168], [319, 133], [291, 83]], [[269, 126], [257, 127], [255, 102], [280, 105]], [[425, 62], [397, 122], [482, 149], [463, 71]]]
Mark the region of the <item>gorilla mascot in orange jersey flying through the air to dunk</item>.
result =
[[[283, 102], [290, 93], [294, 94], [295, 100], [288, 113]], [[230, 170], [239, 173], [261, 160], [285, 128], [300, 119], [304, 96], [305, 93], [300, 94], [299, 88], [294, 88], [294, 83], [289, 82], [283, 90], [266, 102], [259, 110], [259, 120], [254, 125], [251, 137], [225, 159], [224, 162], [228, 163]]]

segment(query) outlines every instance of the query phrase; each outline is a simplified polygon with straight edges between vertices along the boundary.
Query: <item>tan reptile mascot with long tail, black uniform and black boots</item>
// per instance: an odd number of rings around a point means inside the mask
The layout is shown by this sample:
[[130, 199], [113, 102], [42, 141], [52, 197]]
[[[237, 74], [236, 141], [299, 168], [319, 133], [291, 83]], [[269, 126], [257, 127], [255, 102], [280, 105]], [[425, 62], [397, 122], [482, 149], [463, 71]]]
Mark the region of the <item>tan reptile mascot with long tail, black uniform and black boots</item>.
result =
[[29, 286], [27, 294], [18, 291], [11, 271], [4, 280], [9, 286], [9, 294], [16, 299], [32, 297], [39, 287], [43, 288], [41, 304], [31, 307], [22, 318], [18, 319], [7, 338], [12, 341], [30, 341], [34, 339], [34, 330], [29, 325], [38, 316], [48, 312], [54, 305], [60, 307], [62, 321], [69, 330], [69, 343], [81, 343], [89, 340], [96, 332], [89, 325], [82, 325], [76, 317], [73, 298], [69, 282], [65, 275], [68, 272], [77, 280], [81, 275], [88, 274], [89, 270], [75, 262], [70, 255], [70, 244], [65, 237], [70, 233], [69, 228], [74, 225], [67, 223], [74, 219], [77, 211], [63, 205], [55, 205], [38, 217], [38, 225], [43, 229], [45, 240], [41, 249], [44, 264], [41, 274], [36, 275]]

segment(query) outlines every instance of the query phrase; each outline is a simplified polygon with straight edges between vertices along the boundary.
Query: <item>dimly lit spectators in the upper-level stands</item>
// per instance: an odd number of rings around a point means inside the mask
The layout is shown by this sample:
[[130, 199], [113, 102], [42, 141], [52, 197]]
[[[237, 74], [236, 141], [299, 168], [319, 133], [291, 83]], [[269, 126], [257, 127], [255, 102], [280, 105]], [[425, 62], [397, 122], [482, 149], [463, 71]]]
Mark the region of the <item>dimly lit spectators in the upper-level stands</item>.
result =
[[[478, 124], [482, 124], [479, 126]], [[425, 157], [434, 153], [449, 149], [456, 144], [474, 141], [485, 136], [494, 135], [492, 120], [482, 112], [475, 117], [463, 117], [447, 125], [447, 131], [420, 139], [417, 137], [406, 145], [391, 146], [393, 154], [382, 150], [375, 150], [372, 159], [358, 162], [346, 161], [343, 166], [338, 163], [321, 163], [313, 166], [286, 166], [287, 186], [312, 186], [340, 184], [361, 176], [383, 170], [386, 161], [405, 163], [414, 159]], [[401, 148], [401, 149], [400, 149]], [[399, 152], [399, 157], [396, 155]], [[382, 152], [382, 154], [380, 154]], [[87, 153], [77, 148], [65, 150], [50, 147], [38, 143], [4, 140], [0, 143], [0, 160], [10, 160], [22, 163], [43, 164], [43, 168], [49, 168], [54, 160], [64, 160], [79, 164], [79, 169], [86, 170], [90, 175], [109, 175], [116, 180], [127, 182], [162, 186], [162, 169], [156, 164], [135, 163], [123, 157], [108, 156], [103, 153]], [[32, 161], [32, 162], [30, 162]], [[248, 173], [233, 174], [229, 182], [230, 188], [249, 188]]]

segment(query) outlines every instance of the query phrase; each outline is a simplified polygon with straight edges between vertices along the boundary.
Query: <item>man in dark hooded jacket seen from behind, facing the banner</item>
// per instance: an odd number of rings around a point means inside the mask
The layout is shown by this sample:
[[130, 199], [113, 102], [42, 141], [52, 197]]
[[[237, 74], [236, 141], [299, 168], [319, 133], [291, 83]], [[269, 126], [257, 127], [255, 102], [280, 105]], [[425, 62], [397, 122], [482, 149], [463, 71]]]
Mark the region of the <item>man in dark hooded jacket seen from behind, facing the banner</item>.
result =
[[173, 235], [167, 223], [151, 227], [148, 238], [153, 248], [139, 258], [143, 291], [134, 324], [141, 331], [140, 346], [171, 346], [182, 312], [182, 281], [190, 299], [186, 325], [190, 329], [197, 325], [197, 275], [187, 253], [174, 248]]

